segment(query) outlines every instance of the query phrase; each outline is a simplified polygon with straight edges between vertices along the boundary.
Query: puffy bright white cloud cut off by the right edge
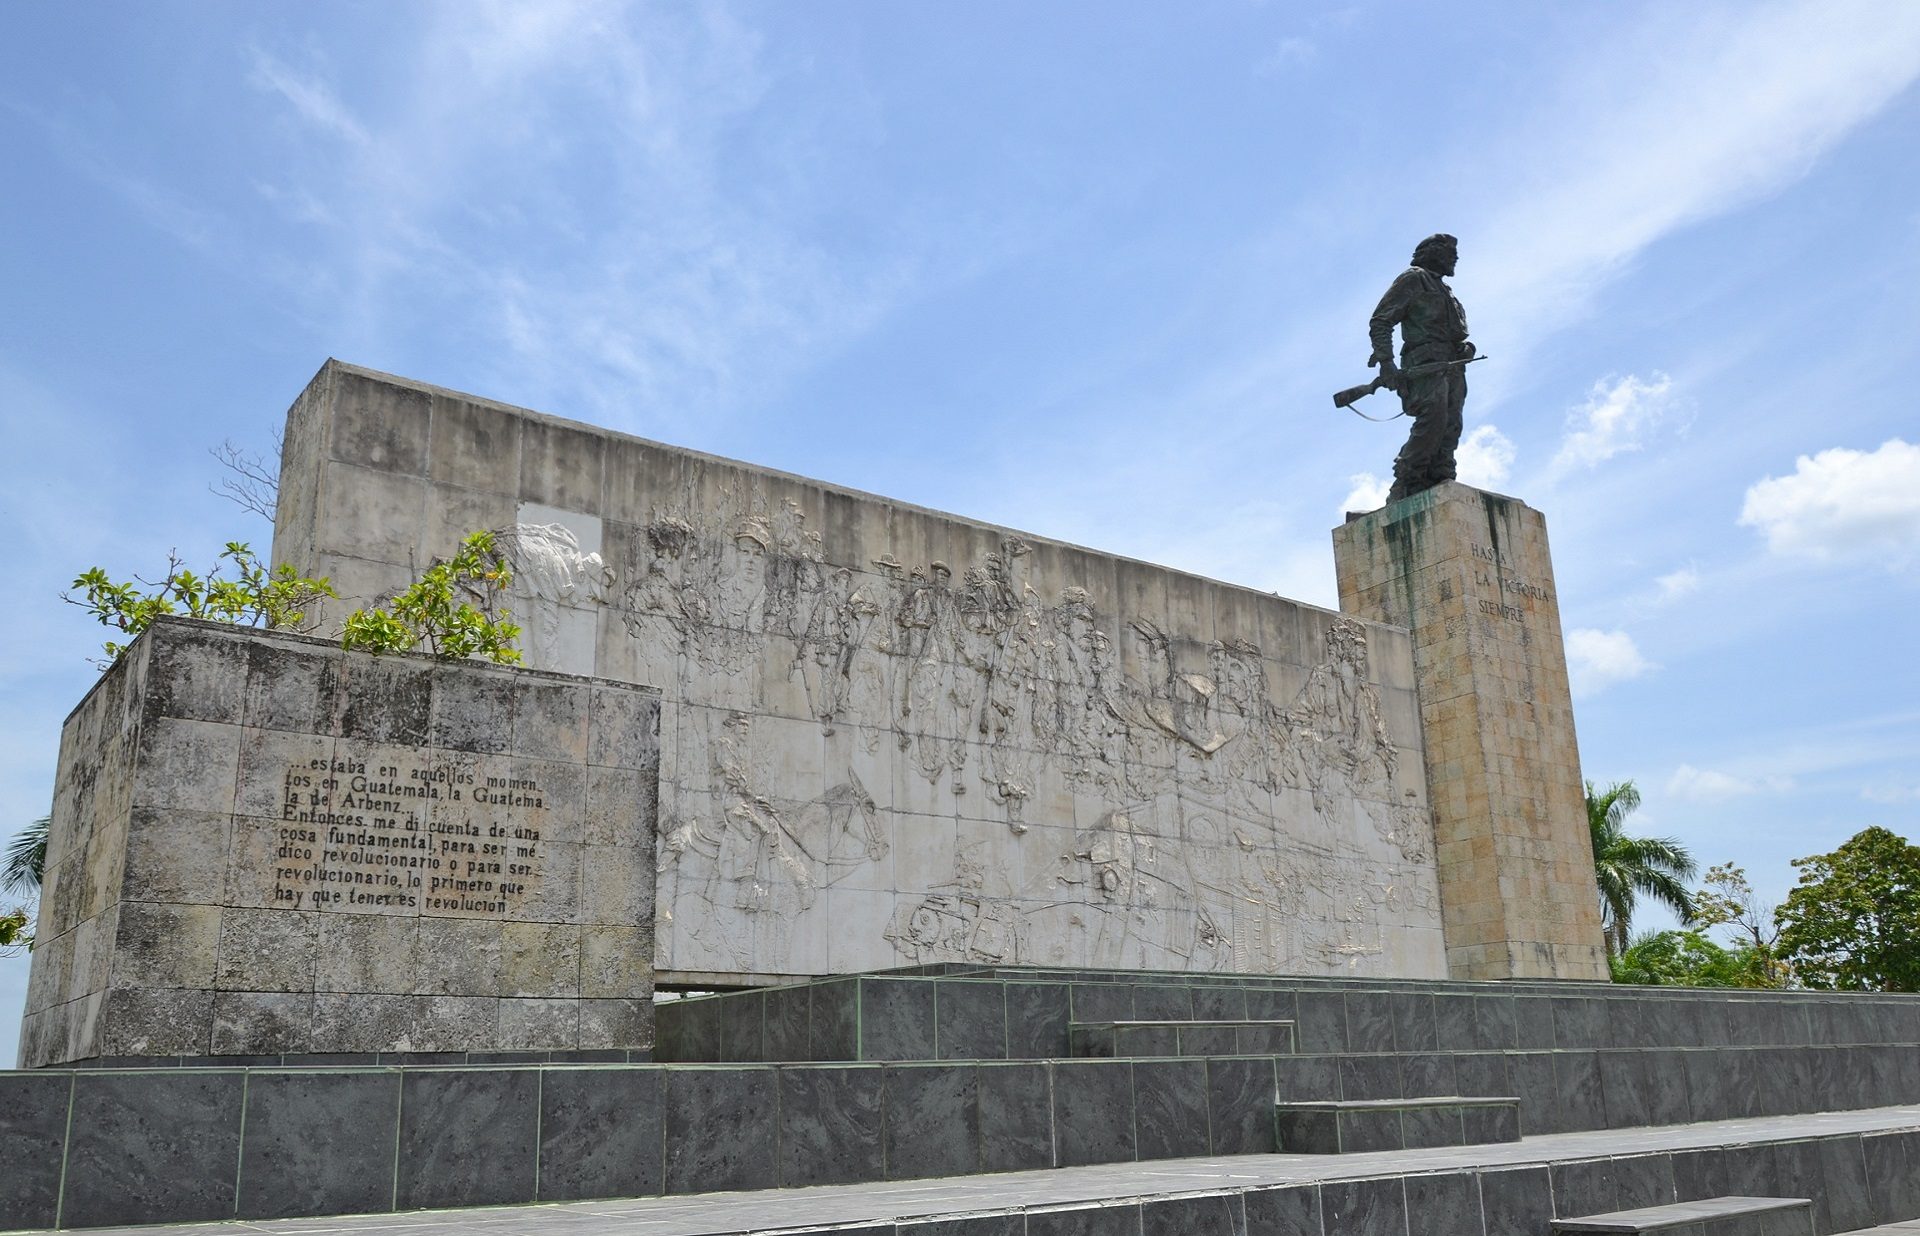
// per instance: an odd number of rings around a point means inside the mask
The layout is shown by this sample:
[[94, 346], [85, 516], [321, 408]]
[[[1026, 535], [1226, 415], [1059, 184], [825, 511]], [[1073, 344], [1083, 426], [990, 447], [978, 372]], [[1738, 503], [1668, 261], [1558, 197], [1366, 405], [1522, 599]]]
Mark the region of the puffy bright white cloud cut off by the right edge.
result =
[[1893, 438], [1876, 451], [1801, 455], [1789, 476], [1747, 489], [1740, 522], [1759, 528], [1778, 555], [1878, 553], [1905, 566], [1920, 559], [1920, 445]]

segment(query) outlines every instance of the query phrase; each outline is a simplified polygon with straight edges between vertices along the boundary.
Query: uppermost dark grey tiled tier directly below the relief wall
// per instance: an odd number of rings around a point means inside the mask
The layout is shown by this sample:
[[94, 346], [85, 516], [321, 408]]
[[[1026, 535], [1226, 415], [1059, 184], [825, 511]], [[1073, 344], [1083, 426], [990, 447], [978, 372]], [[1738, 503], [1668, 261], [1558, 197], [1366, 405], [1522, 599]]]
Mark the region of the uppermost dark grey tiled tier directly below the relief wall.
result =
[[[1294, 1021], [1300, 1054], [1718, 1054], [1724, 1048], [1832, 1052], [1920, 1044], [1920, 996], [1914, 994], [973, 969], [835, 975], [672, 1000], [657, 1010], [655, 1059], [1054, 1059], [1069, 1052], [1069, 1021], [1221, 1017]], [[1920, 1054], [1908, 1056], [1920, 1059]], [[1784, 1077], [1780, 1063], [1766, 1071]], [[1841, 1073], [1866, 1077], [1868, 1069], [1849, 1063]], [[1667, 1086], [1668, 1102], [1684, 1105], [1690, 1084]], [[1809, 1088], [1807, 1081], [1791, 1084], [1799, 1092]], [[1876, 1092], [1866, 1098], [1903, 1096]], [[1709, 1105], [1692, 1119], [1763, 1113], [1734, 1102]]]

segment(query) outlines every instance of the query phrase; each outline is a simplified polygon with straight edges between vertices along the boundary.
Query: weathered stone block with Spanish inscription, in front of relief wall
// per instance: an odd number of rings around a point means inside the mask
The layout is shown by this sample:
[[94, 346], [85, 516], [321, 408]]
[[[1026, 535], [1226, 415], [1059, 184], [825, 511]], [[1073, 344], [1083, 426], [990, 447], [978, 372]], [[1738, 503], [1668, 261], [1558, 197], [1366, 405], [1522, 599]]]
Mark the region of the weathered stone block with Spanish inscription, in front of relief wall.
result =
[[157, 624], [67, 720], [21, 1061], [647, 1046], [657, 712]]

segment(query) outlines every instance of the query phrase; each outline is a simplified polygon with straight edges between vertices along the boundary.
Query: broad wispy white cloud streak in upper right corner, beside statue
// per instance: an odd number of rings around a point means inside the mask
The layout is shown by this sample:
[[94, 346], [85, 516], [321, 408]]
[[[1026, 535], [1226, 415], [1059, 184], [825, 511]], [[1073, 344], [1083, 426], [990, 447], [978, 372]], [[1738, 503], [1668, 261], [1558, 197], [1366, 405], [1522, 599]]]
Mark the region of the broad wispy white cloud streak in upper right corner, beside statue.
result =
[[1473, 250], [1484, 338], [1513, 357], [1584, 315], [1647, 246], [1803, 177], [1916, 77], [1916, 6], [1688, 6], [1622, 27], [1503, 138], [1509, 205]]

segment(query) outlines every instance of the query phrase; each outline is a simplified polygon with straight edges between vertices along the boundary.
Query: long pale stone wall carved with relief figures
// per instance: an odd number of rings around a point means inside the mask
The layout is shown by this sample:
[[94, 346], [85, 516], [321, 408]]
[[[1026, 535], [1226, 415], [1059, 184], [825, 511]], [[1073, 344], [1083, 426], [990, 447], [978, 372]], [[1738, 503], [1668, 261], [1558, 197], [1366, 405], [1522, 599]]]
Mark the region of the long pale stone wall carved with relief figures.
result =
[[315, 386], [288, 549], [380, 578], [328, 509], [369, 482], [355, 440], [407, 428], [367, 409], [419, 390], [422, 438], [468, 428], [419, 463], [417, 553], [459, 535], [436, 509], [486, 516], [530, 664], [662, 687], [668, 979], [1446, 973], [1404, 631], [346, 367]]

